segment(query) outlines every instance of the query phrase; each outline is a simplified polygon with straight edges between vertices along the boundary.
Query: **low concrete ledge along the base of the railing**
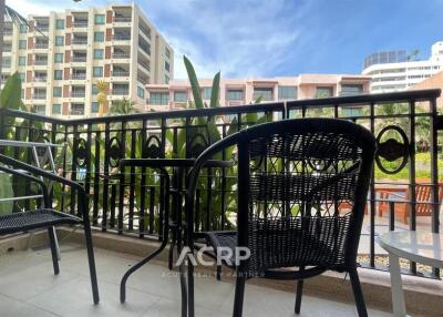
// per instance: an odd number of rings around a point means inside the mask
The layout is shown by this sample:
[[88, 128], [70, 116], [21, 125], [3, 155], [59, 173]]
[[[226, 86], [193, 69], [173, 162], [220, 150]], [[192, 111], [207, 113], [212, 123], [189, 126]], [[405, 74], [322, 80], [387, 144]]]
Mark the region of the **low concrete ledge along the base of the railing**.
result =
[[[58, 236], [60, 242], [84, 244], [83, 231], [79, 228], [59, 228]], [[159, 245], [158, 242], [154, 241], [138, 239], [135, 237], [102, 232], [94, 232], [93, 241], [94, 247], [140, 257], [146, 256]], [[0, 255], [11, 250], [48, 246], [48, 235], [45, 231], [11, 236], [0, 241]], [[168, 248], [166, 248], [155, 259], [155, 264], [166, 265], [167, 250]], [[205, 275], [214, 275], [215, 268], [199, 266], [196, 272]], [[233, 273], [231, 270], [224, 268], [223, 273], [223, 280], [234, 280], [233, 277], [229, 277]], [[361, 268], [359, 269], [359, 275], [368, 307], [392, 311], [389, 273]], [[296, 290], [295, 280], [287, 282], [255, 278], [250, 279], [248, 283], [291, 292], [293, 294]], [[413, 316], [442, 316], [442, 280], [403, 276], [403, 289], [405, 292], [406, 309], [409, 314], [412, 314]], [[349, 278], [344, 279], [344, 274], [333, 272], [328, 272], [321, 276], [308, 279], [305, 283], [303, 294], [329, 300], [353, 303]]]

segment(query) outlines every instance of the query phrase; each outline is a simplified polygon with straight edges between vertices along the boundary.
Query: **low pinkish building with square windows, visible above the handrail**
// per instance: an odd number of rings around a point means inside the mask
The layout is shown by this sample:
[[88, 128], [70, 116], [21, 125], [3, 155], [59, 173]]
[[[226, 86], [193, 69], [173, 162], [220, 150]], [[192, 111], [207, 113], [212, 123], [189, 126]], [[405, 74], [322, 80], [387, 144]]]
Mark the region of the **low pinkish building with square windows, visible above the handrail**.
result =
[[[262, 102], [357, 95], [369, 93], [371, 78], [347, 74], [300, 74], [288, 78], [222, 79], [220, 105], [248, 104], [261, 96]], [[212, 80], [199, 80], [204, 101], [209, 103]], [[148, 84], [148, 108], [156, 111], [187, 108], [193, 100], [187, 80], [169, 84]]]

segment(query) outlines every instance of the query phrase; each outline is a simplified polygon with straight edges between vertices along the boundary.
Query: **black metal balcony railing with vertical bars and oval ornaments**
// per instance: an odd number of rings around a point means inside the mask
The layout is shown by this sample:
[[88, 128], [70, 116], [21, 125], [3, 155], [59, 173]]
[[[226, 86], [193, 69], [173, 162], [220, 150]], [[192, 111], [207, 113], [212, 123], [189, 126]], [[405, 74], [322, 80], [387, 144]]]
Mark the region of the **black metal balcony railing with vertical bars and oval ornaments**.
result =
[[[385, 255], [375, 253], [378, 234], [419, 228], [440, 232], [443, 162], [439, 170], [442, 149], [437, 139], [443, 120], [436, 109], [439, 96], [440, 90], [423, 90], [69, 121], [0, 109], [0, 139], [68, 144], [54, 156], [63, 176], [81, 182], [89, 193], [92, 224], [117, 234], [162, 238], [163, 176], [154, 170], [131, 167], [121, 182], [114, 177], [121, 158], [193, 157], [217, 140], [261, 122], [310, 116], [353, 121], [377, 136], [379, 147], [360, 262], [365, 267], [385, 268]], [[234, 226], [235, 181], [231, 168], [204, 174], [197, 191], [197, 229]], [[426, 202], [419, 190], [422, 185], [429, 188]], [[381, 188], [387, 187], [393, 196], [403, 193], [403, 198], [382, 196]], [[58, 206], [75, 213], [75, 195], [65, 191], [54, 188]], [[399, 212], [404, 205], [405, 217]], [[419, 205], [427, 206], [425, 213], [421, 214]], [[382, 208], [385, 212], [380, 216]], [[414, 275], [440, 276], [436, 268], [413, 262], [406, 269]]]

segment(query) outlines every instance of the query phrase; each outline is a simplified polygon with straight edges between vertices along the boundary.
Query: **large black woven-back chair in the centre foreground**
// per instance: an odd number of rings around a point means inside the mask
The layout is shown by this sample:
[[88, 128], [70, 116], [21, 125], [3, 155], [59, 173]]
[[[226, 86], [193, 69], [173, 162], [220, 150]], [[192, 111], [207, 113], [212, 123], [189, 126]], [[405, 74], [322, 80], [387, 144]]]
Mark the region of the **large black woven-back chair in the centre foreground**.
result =
[[[233, 134], [208, 147], [189, 173], [187, 224], [194, 223], [202, 166], [229, 146], [237, 147], [237, 231], [203, 236], [215, 250], [231, 250], [223, 263], [237, 273], [233, 316], [241, 316], [245, 282], [253, 277], [297, 279], [299, 314], [303, 279], [328, 269], [349, 273], [359, 316], [368, 316], [357, 252], [375, 152], [372, 134], [336, 119], [285, 120]], [[340, 213], [340, 204], [352, 208]], [[200, 236], [188, 227], [190, 252]], [[238, 246], [249, 248], [250, 256], [236, 263]], [[189, 316], [194, 316], [193, 274], [188, 260]]]

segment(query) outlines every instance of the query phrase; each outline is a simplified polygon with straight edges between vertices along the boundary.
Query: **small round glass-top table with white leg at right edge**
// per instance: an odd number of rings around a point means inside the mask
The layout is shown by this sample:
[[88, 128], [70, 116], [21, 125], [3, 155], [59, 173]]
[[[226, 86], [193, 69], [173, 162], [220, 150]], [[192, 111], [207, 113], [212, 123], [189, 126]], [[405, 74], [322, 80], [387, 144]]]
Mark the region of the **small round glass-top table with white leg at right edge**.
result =
[[429, 232], [389, 232], [378, 239], [389, 253], [394, 316], [408, 316], [404, 305], [399, 258], [443, 268], [443, 235]]

